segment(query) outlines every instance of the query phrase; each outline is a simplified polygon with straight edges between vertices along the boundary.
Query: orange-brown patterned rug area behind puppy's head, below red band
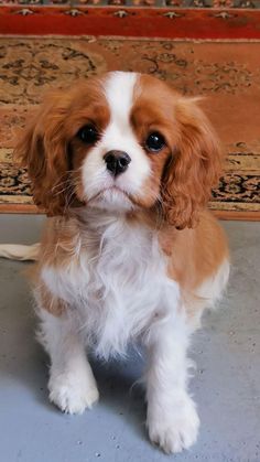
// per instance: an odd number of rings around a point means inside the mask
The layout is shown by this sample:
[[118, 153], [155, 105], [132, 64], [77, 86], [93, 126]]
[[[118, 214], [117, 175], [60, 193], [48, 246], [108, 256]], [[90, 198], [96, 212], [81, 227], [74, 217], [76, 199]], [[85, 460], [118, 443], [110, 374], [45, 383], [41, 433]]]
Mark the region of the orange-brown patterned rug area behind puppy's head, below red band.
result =
[[24, 170], [12, 163], [17, 135], [44, 93], [105, 71], [139, 71], [204, 109], [226, 149], [210, 207], [225, 218], [260, 218], [260, 42], [112, 37], [0, 37], [0, 211], [35, 212]]

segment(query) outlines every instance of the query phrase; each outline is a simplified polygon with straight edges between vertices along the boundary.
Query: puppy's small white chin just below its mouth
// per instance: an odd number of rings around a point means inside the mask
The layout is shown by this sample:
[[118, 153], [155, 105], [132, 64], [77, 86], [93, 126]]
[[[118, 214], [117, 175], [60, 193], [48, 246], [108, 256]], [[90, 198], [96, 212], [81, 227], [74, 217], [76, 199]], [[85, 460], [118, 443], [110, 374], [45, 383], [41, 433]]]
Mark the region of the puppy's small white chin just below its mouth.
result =
[[127, 193], [117, 189], [110, 187], [93, 197], [88, 205], [95, 208], [102, 208], [108, 212], [129, 212], [134, 208], [134, 204]]

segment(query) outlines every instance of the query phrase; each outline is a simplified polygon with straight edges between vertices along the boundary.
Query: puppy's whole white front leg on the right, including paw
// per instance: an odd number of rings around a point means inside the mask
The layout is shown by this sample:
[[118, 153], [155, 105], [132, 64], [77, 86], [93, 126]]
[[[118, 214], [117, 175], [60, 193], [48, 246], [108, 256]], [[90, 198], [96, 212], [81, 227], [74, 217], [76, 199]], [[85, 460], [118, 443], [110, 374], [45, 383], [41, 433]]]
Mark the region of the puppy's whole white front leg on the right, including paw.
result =
[[149, 335], [147, 426], [151, 441], [166, 453], [189, 448], [199, 427], [195, 404], [187, 393], [188, 335], [182, 314], [158, 322]]

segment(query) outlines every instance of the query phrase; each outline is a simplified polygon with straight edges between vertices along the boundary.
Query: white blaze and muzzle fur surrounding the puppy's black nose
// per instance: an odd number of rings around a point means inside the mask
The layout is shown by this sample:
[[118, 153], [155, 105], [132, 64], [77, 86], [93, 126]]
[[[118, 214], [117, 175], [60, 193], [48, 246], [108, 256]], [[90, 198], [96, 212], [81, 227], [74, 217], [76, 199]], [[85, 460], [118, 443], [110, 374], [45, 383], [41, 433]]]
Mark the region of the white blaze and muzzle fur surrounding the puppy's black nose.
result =
[[[84, 191], [87, 198], [112, 185], [128, 194], [144, 194], [143, 186], [151, 174], [151, 166], [130, 120], [138, 85], [139, 74], [128, 72], [109, 73], [102, 82], [110, 118], [100, 140], [84, 162]], [[116, 179], [107, 170], [104, 160], [105, 154], [111, 150], [127, 152], [131, 159], [126, 172]]]

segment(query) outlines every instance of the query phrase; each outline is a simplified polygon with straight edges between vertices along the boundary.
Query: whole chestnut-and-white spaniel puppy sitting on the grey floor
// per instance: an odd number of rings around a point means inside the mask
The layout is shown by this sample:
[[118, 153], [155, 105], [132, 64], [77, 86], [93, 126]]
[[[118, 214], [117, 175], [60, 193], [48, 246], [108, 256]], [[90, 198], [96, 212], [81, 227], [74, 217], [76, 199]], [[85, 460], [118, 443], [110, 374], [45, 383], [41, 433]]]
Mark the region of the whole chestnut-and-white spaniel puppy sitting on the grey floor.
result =
[[199, 427], [189, 337], [229, 273], [206, 208], [221, 151], [197, 99], [148, 75], [108, 73], [51, 93], [15, 155], [48, 215], [30, 251], [50, 400], [69, 413], [90, 408], [87, 353], [108, 359], [136, 343], [151, 441], [166, 453], [189, 448]]

